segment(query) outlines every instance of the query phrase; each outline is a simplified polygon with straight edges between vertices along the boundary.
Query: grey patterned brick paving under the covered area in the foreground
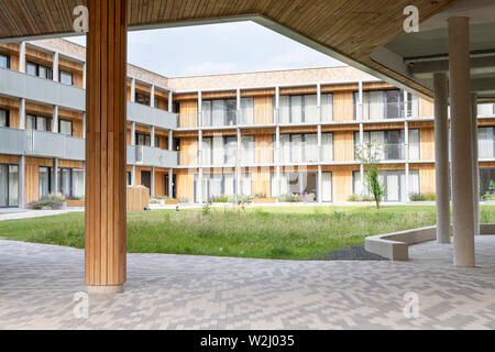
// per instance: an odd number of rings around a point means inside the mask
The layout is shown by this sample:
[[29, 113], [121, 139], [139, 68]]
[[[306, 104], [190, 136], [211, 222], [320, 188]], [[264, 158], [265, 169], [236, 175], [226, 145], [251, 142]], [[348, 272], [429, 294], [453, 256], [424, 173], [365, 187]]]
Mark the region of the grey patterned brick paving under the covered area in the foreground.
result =
[[125, 293], [89, 297], [76, 319], [84, 252], [0, 241], [0, 329], [494, 329], [495, 237], [476, 248], [471, 270], [433, 242], [407, 263], [129, 254]]

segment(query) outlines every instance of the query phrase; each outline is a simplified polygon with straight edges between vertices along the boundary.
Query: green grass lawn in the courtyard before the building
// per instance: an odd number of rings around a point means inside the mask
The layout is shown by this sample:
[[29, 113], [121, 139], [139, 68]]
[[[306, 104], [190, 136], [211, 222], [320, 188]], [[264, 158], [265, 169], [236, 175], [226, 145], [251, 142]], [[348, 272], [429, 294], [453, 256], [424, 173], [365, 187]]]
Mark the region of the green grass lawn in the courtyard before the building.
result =
[[[495, 222], [495, 206], [481, 207]], [[157, 210], [128, 216], [130, 253], [329, 260], [369, 235], [435, 224], [433, 206]], [[84, 215], [0, 221], [0, 238], [84, 248]]]

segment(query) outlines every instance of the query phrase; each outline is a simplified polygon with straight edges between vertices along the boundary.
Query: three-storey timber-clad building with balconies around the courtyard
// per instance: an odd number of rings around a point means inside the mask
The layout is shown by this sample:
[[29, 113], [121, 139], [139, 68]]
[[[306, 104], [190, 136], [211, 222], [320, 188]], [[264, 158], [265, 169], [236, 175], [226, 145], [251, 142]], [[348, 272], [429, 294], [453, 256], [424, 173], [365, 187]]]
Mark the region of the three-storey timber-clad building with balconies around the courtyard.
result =
[[[128, 66], [128, 184], [188, 202], [339, 202], [377, 141], [385, 201], [435, 194], [431, 102], [351, 67], [166, 78]], [[0, 44], [0, 207], [85, 195], [85, 48]], [[481, 193], [495, 191], [495, 105], [479, 106]], [[494, 182], [492, 182], [494, 180]]]

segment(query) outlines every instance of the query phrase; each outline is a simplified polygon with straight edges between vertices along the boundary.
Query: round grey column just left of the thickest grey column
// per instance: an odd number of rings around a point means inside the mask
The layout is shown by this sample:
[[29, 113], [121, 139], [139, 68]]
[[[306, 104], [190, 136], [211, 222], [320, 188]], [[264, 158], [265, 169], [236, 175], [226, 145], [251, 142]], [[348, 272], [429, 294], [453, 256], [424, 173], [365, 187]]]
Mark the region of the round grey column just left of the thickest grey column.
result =
[[449, 109], [447, 85], [446, 74], [435, 74], [435, 184], [438, 243], [450, 243]]

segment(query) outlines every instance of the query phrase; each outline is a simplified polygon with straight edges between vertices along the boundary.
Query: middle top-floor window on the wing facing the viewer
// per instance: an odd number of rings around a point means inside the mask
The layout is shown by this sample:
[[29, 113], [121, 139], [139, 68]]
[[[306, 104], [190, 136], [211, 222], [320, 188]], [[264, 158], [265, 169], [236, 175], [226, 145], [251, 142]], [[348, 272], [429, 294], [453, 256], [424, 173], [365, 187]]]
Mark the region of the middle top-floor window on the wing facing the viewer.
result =
[[[317, 95], [280, 96], [278, 105], [279, 123], [282, 124], [320, 122]], [[332, 105], [332, 95], [321, 95], [321, 122], [330, 122], [333, 120]]]

